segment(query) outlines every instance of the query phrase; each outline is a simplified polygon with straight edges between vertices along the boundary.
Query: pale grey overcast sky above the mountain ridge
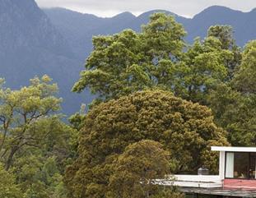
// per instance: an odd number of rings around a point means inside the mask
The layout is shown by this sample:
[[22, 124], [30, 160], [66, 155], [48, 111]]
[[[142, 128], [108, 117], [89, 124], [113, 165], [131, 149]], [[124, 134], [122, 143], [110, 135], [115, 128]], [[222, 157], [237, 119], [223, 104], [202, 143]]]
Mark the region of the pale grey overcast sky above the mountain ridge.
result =
[[192, 17], [212, 5], [249, 12], [256, 0], [35, 0], [40, 7], [66, 7], [97, 16], [114, 16], [120, 12], [138, 15], [154, 9], [165, 9], [181, 16]]

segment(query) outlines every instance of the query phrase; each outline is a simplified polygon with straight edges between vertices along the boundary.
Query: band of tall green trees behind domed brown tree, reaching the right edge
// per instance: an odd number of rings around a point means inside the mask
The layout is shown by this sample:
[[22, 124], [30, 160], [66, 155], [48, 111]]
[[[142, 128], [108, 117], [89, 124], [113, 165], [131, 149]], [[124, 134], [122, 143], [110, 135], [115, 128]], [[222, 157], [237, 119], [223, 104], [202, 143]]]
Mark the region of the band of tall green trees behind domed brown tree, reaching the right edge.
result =
[[255, 41], [242, 51], [229, 25], [210, 27], [191, 46], [184, 35], [172, 16], [157, 13], [141, 33], [95, 37], [73, 90], [90, 88], [95, 104], [139, 90], [168, 90], [212, 108], [232, 145], [255, 145]]

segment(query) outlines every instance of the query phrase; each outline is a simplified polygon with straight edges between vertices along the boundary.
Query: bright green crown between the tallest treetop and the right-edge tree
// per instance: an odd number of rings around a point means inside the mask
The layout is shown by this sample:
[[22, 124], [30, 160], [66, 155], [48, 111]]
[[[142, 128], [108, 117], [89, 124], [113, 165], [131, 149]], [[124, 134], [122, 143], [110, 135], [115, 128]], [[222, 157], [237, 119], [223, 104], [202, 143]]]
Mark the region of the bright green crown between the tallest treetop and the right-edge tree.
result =
[[[221, 42], [214, 37], [200, 41], [196, 39], [184, 58], [185, 69], [178, 95], [200, 104], [207, 104], [206, 97], [227, 77], [226, 60], [232, 54], [221, 48]], [[177, 91], [175, 91], [176, 93]]]

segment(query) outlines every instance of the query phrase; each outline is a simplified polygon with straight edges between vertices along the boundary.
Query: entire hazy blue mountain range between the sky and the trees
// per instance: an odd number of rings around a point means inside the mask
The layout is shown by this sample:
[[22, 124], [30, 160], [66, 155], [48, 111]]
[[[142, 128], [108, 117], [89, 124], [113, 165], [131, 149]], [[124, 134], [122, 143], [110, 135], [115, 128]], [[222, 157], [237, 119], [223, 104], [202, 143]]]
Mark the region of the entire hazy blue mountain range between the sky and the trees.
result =
[[[7, 86], [27, 85], [35, 75], [48, 74], [60, 88], [63, 112], [79, 110], [92, 96], [71, 92], [86, 57], [91, 53], [93, 35], [112, 35], [124, 29], [140, 30], [153, 12], [133, 16], [123, 12], [111, 18], [72, 12], [63, 8], [43, 9], [34, 0], [0, 0], [0, 76]], [[161, 11], [166, 12], [166, 11]], [[174, 13], [168, 12], [175, 15]], [[237, 44], [256, 39], [256, 9], [239, 12], [227, 7], [208, 7], [192, 19], [175, 15], [182, 23], [189, 43], [207, 34], [211, 25], [232, 25]]]

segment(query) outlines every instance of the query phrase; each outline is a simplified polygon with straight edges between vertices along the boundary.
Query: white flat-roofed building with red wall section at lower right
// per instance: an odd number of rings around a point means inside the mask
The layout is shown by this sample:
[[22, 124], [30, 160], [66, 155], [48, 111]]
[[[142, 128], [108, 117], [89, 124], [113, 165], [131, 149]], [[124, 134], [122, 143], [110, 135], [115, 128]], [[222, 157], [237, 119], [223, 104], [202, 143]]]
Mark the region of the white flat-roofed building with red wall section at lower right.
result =
[[174, 175], [159, 182], [187, 193], [256, 197], [256, 147], [212, 146], [212, 152], [220, 153], [218, 175]]

